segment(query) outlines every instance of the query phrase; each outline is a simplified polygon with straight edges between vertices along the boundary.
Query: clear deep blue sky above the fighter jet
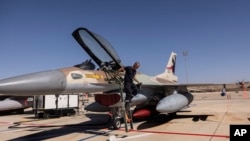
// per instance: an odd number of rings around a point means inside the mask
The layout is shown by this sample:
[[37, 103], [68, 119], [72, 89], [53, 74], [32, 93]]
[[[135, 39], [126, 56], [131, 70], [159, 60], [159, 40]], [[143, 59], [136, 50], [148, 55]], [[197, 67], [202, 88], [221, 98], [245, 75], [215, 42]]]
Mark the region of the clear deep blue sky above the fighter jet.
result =
[[185, 83], [250, 81], [248, 0], [1, 0], [0, 79], [70, 67], [89, 56], [71, 33], [105, 37], [123, 64], [164, 71], [172, 51]]

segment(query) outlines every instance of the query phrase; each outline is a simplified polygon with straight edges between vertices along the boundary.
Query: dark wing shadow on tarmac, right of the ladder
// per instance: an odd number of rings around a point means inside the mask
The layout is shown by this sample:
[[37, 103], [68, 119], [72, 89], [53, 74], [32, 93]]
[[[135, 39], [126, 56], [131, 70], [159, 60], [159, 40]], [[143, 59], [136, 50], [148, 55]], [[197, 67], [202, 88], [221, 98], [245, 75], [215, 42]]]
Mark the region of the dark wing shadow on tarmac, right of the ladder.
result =
[[214, 115], [166, 115], [166, 114], [159, 114], [153, 118], [148, 119], [147, 121], [141, 123], [137, 130], [143, 130], [148, 129], [152, 127], [156, 127], [165, 123], [168, 123], [169, 121], [173, 119], [183, 119], [183, 118], [190, 118], [193, 122], [198, 121], [206, 121], [208, 116], [214, 116]]

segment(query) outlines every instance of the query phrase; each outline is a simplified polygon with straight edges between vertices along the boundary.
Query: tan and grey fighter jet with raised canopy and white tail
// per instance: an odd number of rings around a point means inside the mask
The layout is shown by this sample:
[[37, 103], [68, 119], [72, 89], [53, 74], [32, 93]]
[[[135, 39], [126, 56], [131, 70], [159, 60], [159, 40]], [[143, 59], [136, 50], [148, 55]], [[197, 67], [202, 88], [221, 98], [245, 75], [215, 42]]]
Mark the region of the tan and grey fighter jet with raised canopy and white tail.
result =
[[[93, 109], [113, 111], [114, 126], [119, 128], [122, 107], [123, 74], [116, 71], [124, 66], [111, 44], [102, 36], [88, 30], [77, 28], [73, 37], [98, 65], [89, 60], [83, 64], [56, 70], [41, 71], [0, 80], [0, 93], [7, 95], [47, 95], [69, 93], [94, 93], [99, 104]], [[133, 116], [145, 118], [155, 113], [176, 113], [188, 106], [193, 95], [187, 91], [187, 85], [179, 85], [175, 73], [176, 53], [172, 52], [167, 67], [162, 74], [154, 77], [138, 72], [137, 79], [142, 82], [140, 92], [132, 99], [135, 105]], [[100, 108], [104, 107], [104, 108]], [[91, 106], [87, 108], [91, 110]]]

